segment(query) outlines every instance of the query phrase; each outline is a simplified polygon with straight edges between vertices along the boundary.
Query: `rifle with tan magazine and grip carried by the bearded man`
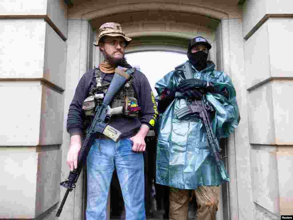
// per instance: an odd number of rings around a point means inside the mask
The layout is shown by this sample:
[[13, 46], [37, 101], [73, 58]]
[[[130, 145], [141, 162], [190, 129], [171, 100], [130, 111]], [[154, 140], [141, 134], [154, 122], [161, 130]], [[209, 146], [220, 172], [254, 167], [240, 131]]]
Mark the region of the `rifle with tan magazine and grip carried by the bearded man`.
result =
[[[126, 71], [125, 71], [126, 70]], [[78, 154], [77, 168], [70, 171], [68, 180], [60, 183], [61, 186], [67, 188], [65, 195], [62, 199], [60, 207], [57, 211], [56, 217], [59, 217], [64, 203], [67, 199], [69, 192], [75, 188], [75, 183], [81, 173], [82, 167], [86, 161], [86, 157], [91, 149], [91, 142], [93, 140], [93, 134], [98, 132], [104, 134], [114, 141], [118, 141], [121, 135], [117, 129], [108, 125], [112, 114], [117, 114], [122, 112], [123, 107], [110, 108], [109, 104], [114, 98], [114, 95], [120, 90], [120, 88], [125, 84], [125, 82], [132, 76], [135, 69], [115, 69], [114, 77], [110, 83], [107, 93], [103, 99], [103, 103], [99, 103], [95, 109], [95, 116], [91, 122], [89, 129], [87, 130], [86, 138], [84, 139], [81, 149]]]

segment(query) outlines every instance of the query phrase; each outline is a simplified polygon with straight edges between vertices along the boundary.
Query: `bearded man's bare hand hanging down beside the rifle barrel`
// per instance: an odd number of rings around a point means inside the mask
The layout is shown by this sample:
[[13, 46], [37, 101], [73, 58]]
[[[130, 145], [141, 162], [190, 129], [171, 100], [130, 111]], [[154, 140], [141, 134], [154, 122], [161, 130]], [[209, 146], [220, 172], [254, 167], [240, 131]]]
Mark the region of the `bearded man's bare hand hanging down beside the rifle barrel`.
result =
[[69, 151], [67, 154], [67, 164], [72, 171], [77, 168], [78, 153], [81, 148], [81, 134], [75, 134], [70, 137]]

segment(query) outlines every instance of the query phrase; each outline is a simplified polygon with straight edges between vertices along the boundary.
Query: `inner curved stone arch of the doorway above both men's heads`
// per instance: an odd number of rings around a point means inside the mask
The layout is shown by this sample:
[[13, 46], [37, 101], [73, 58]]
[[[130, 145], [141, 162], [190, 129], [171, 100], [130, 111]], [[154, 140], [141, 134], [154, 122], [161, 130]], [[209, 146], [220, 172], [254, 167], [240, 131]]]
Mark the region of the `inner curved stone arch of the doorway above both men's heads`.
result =
[[[90, 23], [95, 30], [98, 30], [100, 25], [109, 21], [120, 23], [125, 34], [133, 39], [126, 48], [126, 54], [142, 51], [168, 51], [185, 54], [189, 40], [195, 36], [203, 36], [212, 45], [209, 59], [214, 61], [217, 69], [223, 70], [220, 37], [221, 21], [217, 19], [198, 14], [148, 11], [95, 18]], [[196, 22], [193, 23], [193, 21]], [[95, 37], [97, 38], [97, 36]], [[98, 48], [96, 48], [96, 53], [99, 53], [98, 59], [96, 59], [97, 65], [97, 62], [101, 59]], [[223, 187], [224, 189], [222, 189]], [[217, 219], [219, 220], [229, 218], [227, 187], [228, 185], [222, 185], [221, 188], [219, 212], [217, 213]]]

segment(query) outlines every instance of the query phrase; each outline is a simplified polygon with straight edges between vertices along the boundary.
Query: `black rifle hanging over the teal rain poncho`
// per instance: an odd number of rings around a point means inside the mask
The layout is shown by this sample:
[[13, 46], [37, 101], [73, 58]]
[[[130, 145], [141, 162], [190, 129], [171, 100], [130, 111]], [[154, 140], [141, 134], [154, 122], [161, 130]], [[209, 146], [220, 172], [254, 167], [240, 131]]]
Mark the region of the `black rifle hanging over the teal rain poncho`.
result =
[[[192, 79], [193, 76], [191, 74], [191, 69], [190, 69], [189, 63], [187, 63], [185, 65], [185, 69], [186, 69], [184, 71], [185, 78]], [[186, 96], [180, 92], [176, 92], [175, 97], [176, 98], [186, 98]], [[222, 176], [223, 180], [230, 181], [228, 174], [227, 174], [227, 171], [224, 167], [224, 163], [221, 160], [221, 156], [219, 154], [219, 151], [221, 151], [219, 141], [214, 134], [214, 131], [212, 129], [211, 122], [209, 119], [210, 113], [208, 113], [208, 112], [214, 111], [214, 107], [211, 104], [209, 104], [208, 101], [205, 102], [205, 100], [203, 98], [202, 98], [202, 100], [188, 100], [186, 98], [186, 103], [188, 106], [177, 110], [175, 112], [175, 114], [177, 115], [178, 119], [184, 117], [185, 115], [196, 114], [196, 113], [199, 114], [199, 117], [201, 118], [202, 123], [205, 126], [205, 130], [207, 132], [207, 145], [209, 146], [209, 150], [210, 150], [212, 156], [216, 160], [217, 167], [221, 173], [221, 176]]]

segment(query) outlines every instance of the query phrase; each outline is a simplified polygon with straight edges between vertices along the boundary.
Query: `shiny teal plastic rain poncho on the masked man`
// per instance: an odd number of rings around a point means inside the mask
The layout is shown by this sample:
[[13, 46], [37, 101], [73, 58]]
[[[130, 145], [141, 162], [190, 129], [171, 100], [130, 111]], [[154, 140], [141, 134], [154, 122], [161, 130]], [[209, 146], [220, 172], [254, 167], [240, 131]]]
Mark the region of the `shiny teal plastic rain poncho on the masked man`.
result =
[[[187, 61], [188, 62], [188, 61]], [[176, 67], [156, 83], [160, 99], [164, 88], [176, 91], [185, 79], [184, 64]], [[211, 61], [202, 71], [191, 64], [193, 76], [214, 83], [214, 87], [229, 91], [229, 100], [223, 95], [207, 93], [206, 98], [215, 108], [212, 128], [218, 139], [229, 136], [239, 123], [236, 92], [231, 79], [224, 72], [214, 70]], [[158, 120], [158, 143], [156, 160], [156, 183], [179, 189], [196, 189], [198, 185], [219, 185], [225, 182], [206, 144], [205, 128], [198, 117], [187, 115], [180, 120], [175, 111], [186, 107], [186, 100], [175, 98]]]

